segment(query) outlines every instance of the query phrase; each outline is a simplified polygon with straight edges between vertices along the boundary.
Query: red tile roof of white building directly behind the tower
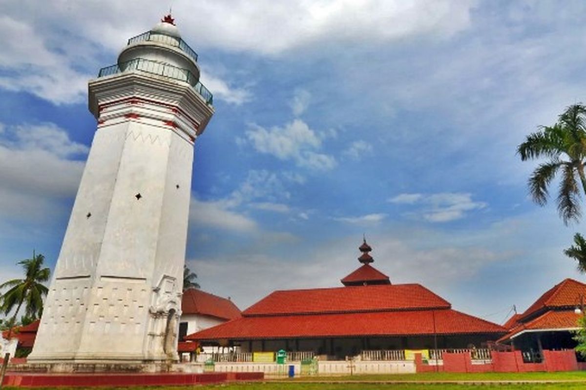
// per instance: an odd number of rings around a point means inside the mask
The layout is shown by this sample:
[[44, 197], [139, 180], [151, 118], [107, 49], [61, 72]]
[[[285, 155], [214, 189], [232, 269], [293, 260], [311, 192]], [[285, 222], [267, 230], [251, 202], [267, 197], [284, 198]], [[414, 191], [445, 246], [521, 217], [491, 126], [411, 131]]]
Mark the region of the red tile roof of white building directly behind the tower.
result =
[[230, 299], [195, 288], [183, 291], [181, 311], [183, 314], [201, 314], [224, 320], [240, 317], [240, 309]]

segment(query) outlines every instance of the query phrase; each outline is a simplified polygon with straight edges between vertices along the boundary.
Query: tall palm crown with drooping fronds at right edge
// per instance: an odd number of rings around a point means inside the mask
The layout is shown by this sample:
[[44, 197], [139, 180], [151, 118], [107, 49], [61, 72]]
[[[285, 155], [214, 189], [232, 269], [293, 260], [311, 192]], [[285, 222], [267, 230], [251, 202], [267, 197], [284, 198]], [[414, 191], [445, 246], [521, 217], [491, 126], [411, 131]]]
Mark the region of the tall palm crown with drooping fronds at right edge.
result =
[[[582, 103], [568, 106], [553, 126], [540, 126], [517, 147], [521, 160], [546, 157], [529, 178], [529, 192], [540, 206], [547, 203], [548, 186], [558, 172], [561, 181], [557, 195], [557, 209], [565, 225], [581, 217], [581, 192], [586, 195], [586, 106]], [[581, 184], [578, 184], [578, 180]]]

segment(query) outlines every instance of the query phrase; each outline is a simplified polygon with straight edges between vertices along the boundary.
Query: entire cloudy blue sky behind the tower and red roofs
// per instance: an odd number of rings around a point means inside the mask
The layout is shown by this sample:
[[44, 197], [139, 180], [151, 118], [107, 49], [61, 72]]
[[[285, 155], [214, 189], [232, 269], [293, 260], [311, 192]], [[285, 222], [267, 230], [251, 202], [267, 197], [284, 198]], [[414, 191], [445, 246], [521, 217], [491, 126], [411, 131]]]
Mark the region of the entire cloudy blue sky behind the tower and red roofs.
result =
[[[158, 1], [4, 0], [0, 279], [53, 267], [96, 123], [87, 81]], [[581, 226], [527, 197], [517, 144], [584, 101], [586, 4], [172, 1], [214, 115], [197, 140], [187, 249], [246, 308], [338, 286], [366, 233], [391, 282], [495, 322], [566, 277]], [[556, 183], [553, 184], [555, 188]]]

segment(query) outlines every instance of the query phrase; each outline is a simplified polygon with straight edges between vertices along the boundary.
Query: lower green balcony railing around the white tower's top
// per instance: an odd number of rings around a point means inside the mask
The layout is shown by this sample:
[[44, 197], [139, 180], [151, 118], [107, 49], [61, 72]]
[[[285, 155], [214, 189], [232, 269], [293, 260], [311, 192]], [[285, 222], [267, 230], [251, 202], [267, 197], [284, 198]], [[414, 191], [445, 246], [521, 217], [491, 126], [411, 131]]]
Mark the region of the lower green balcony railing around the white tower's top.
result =
[[98, 77], [105, 77], [117, 73], [128, 71], [141, 71], [145, 73], [156, 74], [159, 76], [173, 78], [175, 80], [185, 81], [202, 96], [207, 105], [213, 104], [213, 95], [197, 78], [187, 69], [179, 68], [158, 61], [146, 60], [145, 58], [134, 58], [134, 60], [124, 63], [110, 65], [100, 69]]

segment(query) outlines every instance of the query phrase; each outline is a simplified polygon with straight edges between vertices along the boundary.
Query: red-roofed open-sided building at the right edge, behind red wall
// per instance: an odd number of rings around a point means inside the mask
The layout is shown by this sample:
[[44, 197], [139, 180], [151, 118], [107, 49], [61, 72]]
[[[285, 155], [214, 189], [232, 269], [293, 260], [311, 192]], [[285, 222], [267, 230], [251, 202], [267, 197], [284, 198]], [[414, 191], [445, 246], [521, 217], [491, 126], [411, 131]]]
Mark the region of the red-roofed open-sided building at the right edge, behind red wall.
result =
[[546, 291], [523, 313], [505, 323], [509, 332], [498, 342], [515, 349], [541, 353], [543, 350], [571, 349], [576, 346], [573, 331], [584, 316], [586, 284], [564, 279]]

